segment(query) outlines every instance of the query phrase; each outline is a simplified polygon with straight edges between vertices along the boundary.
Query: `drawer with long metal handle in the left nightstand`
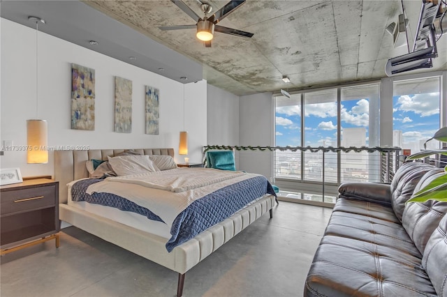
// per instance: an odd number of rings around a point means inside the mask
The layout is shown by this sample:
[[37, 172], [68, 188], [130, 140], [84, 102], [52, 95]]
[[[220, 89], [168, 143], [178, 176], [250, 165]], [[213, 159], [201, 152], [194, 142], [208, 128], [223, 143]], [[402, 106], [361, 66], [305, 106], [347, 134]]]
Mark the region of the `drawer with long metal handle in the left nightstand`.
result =
[[55, 192], [55, 185], [2, 192], [1, 214], [53, 206]]

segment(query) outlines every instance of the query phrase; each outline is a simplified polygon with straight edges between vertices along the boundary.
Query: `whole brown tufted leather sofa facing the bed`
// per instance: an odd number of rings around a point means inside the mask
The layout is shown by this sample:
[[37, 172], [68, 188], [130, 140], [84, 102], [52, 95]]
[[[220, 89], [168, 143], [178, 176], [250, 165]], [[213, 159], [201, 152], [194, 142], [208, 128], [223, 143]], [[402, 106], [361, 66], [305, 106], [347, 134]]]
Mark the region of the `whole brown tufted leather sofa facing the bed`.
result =
[[447, 202], [405, 204], [439, 174], [409, 162], [390, 185], [341, 185], [304, 295], [447, 296]]

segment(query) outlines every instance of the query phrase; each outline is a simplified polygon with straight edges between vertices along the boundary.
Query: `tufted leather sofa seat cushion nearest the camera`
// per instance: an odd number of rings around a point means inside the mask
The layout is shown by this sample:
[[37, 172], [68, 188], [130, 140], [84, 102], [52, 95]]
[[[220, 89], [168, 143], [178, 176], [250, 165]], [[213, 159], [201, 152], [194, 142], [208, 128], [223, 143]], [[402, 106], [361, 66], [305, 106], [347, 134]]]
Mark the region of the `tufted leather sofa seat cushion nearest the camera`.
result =
[[388, 246], [326, 235], [305, 296], [437, 296], [420, 257]]

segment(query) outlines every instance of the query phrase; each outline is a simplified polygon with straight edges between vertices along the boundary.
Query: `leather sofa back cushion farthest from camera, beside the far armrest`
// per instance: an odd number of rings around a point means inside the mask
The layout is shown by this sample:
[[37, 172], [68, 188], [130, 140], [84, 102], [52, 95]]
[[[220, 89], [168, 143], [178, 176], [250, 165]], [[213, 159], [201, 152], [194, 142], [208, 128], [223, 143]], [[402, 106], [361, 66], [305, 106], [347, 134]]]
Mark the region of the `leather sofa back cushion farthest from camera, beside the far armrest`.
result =
[[402, 164], [390, 185], [391, 206], [396, 217], [402, 222], [405, 202], [413, 195], [413, 190], [425, 173], [433, 166], [421, 162], [406, 162]]

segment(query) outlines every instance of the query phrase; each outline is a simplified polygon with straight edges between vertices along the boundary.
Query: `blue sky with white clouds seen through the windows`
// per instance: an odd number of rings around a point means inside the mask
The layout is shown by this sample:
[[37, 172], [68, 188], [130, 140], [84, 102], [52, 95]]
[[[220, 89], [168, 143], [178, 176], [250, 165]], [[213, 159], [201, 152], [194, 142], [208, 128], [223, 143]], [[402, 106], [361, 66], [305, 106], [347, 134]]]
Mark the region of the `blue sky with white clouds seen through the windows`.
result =
[[[366, 128], [369, 137], [369, 102], [367, 98], [342, 101], [342, 129]], [[277, 107], [276, 145], [300, 146], [300, 107]], [[439, 129], [439, 93], [395, 96], [393, 130], [402, 130], [405, 142], [418, 142]], [[337, 146], [337, 103], [325, 102], [305, 106], [305, 144], [303, 146]], [[367, 142], [368, 145], [368, 142]]]

